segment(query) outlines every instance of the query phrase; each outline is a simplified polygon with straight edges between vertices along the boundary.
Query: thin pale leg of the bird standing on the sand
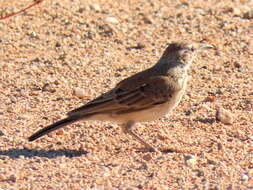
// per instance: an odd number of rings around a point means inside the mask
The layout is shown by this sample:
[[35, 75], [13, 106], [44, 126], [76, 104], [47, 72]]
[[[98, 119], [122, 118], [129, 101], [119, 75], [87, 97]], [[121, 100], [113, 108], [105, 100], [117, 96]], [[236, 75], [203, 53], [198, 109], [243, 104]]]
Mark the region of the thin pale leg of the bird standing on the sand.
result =
[[136, 135], [132, 131], [132, 127], [134, 126], [134, 124], [135, 124], [134, 121], [128, 121], [126, 124], [122, 125], [122, 131], [123, 131], [123, 133], [131, 135], [133, 138], [135, 138], [141, 144], [143, 144], [149, 151], [151, 151], [151, 152], [159, 152], [156, 148], [154, 148], [152, 145], [150, 145], [149, 143], [147, 143], [145, 140], [143, 140], [141, 137], [139, 137], [138, 135]]

